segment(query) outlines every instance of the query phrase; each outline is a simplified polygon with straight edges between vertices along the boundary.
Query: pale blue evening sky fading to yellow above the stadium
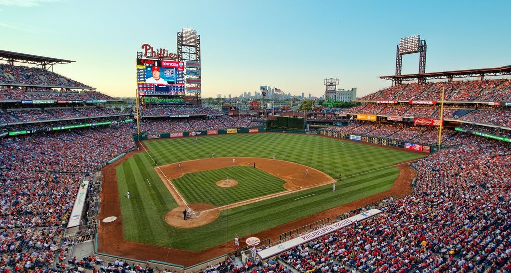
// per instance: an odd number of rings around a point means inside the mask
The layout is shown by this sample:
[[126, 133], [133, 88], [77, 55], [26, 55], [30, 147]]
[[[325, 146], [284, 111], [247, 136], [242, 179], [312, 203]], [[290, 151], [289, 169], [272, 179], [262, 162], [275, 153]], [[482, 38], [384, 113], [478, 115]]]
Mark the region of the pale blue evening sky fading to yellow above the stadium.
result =
[[[0, 0], [0, 49], [73, 60], [54, 72], [135, 96], [142, 44], [177, 52], [201, 38], [202, 97], [277, 87], [324, 94], [325, 78], [361, 97], [391, 86], [400, 38], [426, 40], [426, 72], [511, 64], [511, 1]], [[419, 54], [403, 56], [417, 73]]]

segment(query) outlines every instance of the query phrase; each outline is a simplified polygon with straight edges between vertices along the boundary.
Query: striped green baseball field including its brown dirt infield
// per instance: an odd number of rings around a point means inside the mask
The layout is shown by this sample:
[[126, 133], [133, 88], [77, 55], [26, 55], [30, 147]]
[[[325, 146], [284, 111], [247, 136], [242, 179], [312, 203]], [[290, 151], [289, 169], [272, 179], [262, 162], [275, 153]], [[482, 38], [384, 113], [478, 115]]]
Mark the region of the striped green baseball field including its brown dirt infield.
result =
[[[424, 156], [286, 133], [151, 140], [144, 145], [114, 167], [118, 192], [108, 191], [105, 200], [118, 201], [103, 202], [102, 215], [114, 215], [120, 207], [120, 223], [102, 223], [107, 233], [102, 236], [115, 233], [118, 225], [125, 241], [192, 252], [385, 192], [398, 177], [400, 162], [405, 166]], [[236, 185], [226, 185], [227, 176]], [[194, 217], [183, 221], [188, 205]], [[207, 213], [209, 219], [199, 224]], [[101, 245], [105, 243], [108, 237]]]

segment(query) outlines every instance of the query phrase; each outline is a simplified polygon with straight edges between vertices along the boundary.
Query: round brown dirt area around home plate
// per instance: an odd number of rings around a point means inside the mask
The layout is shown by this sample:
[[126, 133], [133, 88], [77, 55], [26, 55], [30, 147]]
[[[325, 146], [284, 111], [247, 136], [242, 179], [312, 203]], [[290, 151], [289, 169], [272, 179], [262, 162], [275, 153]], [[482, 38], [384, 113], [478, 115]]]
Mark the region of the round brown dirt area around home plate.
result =
[[179, 206], [167, 213], [165, 221], [167, 224], [177, 228], [196, 228], [215, 221], [220, 215], [220, 210], [212, 204], [194, 203], [190, 204], [192, 215], [190, 219], [184, 220], [183, 210], [186, 206]]

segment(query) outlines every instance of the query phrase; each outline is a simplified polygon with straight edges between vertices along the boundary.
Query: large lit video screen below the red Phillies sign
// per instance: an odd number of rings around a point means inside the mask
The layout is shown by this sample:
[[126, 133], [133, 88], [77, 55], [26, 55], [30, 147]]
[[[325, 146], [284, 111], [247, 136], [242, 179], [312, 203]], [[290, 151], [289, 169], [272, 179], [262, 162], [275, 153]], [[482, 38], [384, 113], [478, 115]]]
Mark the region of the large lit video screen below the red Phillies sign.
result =
[[184, 63], [136, 59], [138, 95], [184, 95]]

